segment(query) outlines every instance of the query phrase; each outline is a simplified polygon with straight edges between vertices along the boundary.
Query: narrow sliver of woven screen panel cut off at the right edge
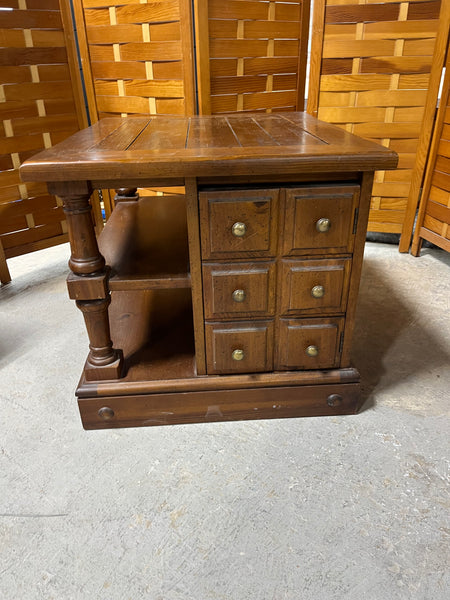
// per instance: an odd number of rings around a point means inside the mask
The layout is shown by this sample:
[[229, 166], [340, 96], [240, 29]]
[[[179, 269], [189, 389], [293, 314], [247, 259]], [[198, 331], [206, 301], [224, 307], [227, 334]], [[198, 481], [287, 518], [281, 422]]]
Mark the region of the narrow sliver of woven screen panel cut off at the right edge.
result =
[[412, 252], [417, 255], [422, 240], [450, 252], [450, 57], [425, 173], [423, 194], [414, 233]]

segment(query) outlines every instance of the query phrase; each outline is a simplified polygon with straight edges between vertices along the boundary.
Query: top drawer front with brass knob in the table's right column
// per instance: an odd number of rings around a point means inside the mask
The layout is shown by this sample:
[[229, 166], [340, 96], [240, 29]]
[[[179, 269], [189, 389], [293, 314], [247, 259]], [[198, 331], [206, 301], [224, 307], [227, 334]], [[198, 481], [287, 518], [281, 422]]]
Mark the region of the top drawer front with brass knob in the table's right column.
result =
[[283, 254], [353, 250], [359, 186], [286, 189]]

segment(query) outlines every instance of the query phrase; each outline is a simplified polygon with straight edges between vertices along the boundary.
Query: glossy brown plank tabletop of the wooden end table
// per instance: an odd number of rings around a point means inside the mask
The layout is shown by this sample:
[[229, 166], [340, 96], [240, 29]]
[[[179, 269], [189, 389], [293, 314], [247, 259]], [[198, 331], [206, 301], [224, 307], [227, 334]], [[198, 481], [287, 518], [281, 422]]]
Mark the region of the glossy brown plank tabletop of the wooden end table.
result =
[[303, 112], [112, 117], [27, 160], [24, 181], [393, 169], [397, 155]]

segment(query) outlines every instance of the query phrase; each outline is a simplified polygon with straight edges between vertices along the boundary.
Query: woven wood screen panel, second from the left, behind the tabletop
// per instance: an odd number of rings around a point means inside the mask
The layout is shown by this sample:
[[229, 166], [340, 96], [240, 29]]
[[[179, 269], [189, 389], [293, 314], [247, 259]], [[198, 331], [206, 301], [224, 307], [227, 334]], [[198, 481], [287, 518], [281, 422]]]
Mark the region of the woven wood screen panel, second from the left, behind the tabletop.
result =
[[189, 0], [77, 0], [93, 122], [111, 115], [194, 112]]

